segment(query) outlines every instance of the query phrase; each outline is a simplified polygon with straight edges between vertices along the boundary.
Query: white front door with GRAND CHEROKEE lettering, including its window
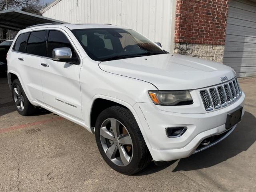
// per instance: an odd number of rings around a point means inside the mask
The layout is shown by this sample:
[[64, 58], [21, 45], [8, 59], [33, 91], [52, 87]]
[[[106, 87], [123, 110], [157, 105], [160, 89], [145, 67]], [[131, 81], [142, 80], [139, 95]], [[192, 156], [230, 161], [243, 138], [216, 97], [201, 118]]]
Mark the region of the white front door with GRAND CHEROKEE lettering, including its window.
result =
[[[63, 30], [49, 30], [46, 57], [40, 64], [42, 94], [45, 103], [55, 110], [82, 120], [79, 74], [82, 63], [70, 64], [51, 59], [54, 48], [69, 47], [78, 56], [68, 34]], [[79, 57], [79, 56], [78, 56]]]

